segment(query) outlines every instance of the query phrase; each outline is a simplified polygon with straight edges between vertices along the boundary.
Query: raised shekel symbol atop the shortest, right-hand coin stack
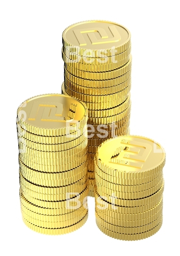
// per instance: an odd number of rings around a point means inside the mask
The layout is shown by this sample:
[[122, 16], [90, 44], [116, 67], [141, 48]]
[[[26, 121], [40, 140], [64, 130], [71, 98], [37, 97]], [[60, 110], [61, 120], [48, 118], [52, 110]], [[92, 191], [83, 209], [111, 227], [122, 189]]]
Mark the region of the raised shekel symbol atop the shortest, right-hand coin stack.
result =
[[[110, 163], [141, 169], [152, 151], [152, 146], [144, 142], [122, 140], [116, 155]], [[123, 146], [123, 147], [122, 147]]]

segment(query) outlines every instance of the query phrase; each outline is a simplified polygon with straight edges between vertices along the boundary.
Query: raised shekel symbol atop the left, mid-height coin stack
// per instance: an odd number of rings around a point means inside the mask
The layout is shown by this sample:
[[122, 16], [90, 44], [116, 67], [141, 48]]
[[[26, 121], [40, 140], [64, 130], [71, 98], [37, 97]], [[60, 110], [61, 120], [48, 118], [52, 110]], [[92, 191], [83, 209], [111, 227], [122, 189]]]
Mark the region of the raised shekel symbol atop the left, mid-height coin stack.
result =
[[[75, 106], [76, 108], [77, 106]], [[71, 114], [70, 114], [71, 113]], [[73, 117], [75, 115], [74, 111], [69, 108], [64, 108], [63, 104], [60, 102], [38, 102], [33, 103], [31, 112], [29, 114], [28, 120], [41, 120], [48, 122], [66, 122], [71, 121], [73, 123]], [[75, 121], [76, 122], [76, 121]]]

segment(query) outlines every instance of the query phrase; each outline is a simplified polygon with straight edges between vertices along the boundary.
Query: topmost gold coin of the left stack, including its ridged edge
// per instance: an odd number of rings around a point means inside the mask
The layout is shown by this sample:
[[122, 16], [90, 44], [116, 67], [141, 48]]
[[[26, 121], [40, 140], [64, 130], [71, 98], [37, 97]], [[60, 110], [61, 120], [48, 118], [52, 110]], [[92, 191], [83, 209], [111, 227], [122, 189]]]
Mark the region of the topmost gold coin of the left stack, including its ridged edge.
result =
[[[71, 105], [76, 106], [73, 119], [68, 118]], [[70, 126], [84, 127], [86, 121], [86, 105], [61, 94], [33, 97], [24, 101], [17, 110], [17, 122], [21, 128], [40, 136], [66, 135]]]

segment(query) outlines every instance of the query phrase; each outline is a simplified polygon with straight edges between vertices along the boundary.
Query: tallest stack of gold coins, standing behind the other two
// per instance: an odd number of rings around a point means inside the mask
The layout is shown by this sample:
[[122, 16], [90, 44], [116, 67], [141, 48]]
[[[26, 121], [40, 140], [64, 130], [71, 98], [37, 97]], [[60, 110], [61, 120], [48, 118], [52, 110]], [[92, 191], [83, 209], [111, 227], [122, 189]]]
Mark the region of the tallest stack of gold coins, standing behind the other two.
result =
[[94, 155], [104, 140], [129, 133], [131, 41], [129, 30], [108, 21], [80, 22], [62, 35], [65, 95], [88, 107], [89, 195], [94, 196]]

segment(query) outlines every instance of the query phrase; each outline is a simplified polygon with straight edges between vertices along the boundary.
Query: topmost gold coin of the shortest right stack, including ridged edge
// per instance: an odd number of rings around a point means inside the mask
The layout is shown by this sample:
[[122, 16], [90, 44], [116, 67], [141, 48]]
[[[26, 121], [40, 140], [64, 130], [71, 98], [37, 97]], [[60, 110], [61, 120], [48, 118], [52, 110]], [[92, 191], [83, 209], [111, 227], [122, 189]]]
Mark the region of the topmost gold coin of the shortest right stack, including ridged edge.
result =
[[162, 172], [165, 153], [160, 144], [146, 137], [116, 137], [99, 146], [96, 163], [107, 174], [140, 181]]

